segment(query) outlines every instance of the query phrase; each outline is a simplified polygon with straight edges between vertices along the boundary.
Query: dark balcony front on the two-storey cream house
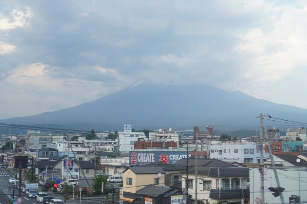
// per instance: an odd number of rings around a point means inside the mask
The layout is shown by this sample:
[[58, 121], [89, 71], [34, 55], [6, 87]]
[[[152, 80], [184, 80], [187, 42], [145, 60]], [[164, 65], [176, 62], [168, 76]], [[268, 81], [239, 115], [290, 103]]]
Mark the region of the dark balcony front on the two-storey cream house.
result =
[[218, 190], [211, 189], [209, 198], [212, 199], [235, 199], [235, 198], [249, 198], [249, 188], [245, 189], [227, 189], [227, 190]]

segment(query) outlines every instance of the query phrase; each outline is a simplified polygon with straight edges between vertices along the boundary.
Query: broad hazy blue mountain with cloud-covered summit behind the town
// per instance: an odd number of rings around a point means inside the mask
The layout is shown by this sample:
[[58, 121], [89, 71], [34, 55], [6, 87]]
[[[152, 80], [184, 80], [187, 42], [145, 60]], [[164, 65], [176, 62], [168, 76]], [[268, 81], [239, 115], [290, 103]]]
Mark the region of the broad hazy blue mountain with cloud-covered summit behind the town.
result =
[[193, 126], [255, 127], [259, 126], [256, 117], [260, 113], [292, 121], [307, 119], [307, 109], [275, 104], [240, 91], [205, 85], [140, 84], [79, 106], [3, 119], [0, 123], [59, 124], [65, 127], [74, 123], [79, 125], [78, 130], [83, 123], [86, 126], [95, 123], [103, 129], [99, 131], [122, 131], [123, 124], [131, 123], [136, 130], [169, 127], [183, 130]]

